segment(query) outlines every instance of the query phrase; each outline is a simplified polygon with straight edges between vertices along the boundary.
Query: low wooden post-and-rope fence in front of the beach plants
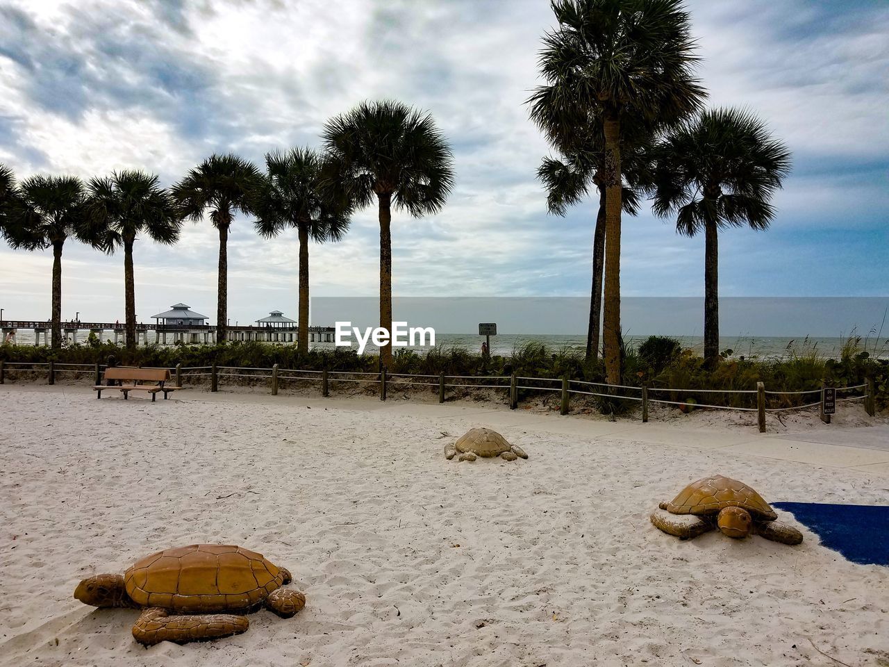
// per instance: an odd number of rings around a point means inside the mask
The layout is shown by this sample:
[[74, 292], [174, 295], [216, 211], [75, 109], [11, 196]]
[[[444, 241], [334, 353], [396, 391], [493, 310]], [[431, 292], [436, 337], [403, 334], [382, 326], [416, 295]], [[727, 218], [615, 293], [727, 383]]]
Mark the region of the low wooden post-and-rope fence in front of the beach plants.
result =
[[[20, 373], [45, 375], [49, 384], [54, 384], [60, 374], [82, 377], [90, 376], [95, 384], [99, 384], [101, 373], [106, 366], [100, 364], [60, 364], [58, 362], [16, 362], [0, 361], [0, 384], [4, 384], [7, 375]], [[154, 367], [154, 366], [144, 366]], [[572, 396], [589, 396], [605, 398], [608, 401], [632, 401], [641, 404], [642, 421], [648, 421], [648, 408], [651, 404], [679, 406], [685, 410], [711, 409], [732, 410], [736, 412], [757, 413], [759, 430], [765, 432], [765, 415], [781, 414], [813, 407], [821, 408], [821, 419], [830, 422], [830, 414], [824, 413], [824, 393], [828, 389], [822, 382], [821, 389], [805, 391], [770, 391], [765, 389], [763, 382], [757, 382], [755, 390], [708, 390], [692, 388], [655, 387], [606, 384], [604, 382], [585, 382], [565, 378], [524, 377], [511, 375], [421, 375], [405, 373], [367, 373], [356, 371], [308, 370], [298, 368], [280, 368], [277, 364], [271, 368], [252, 368], [244, 366], [182, 366], [168, 368], [176, 386], [184, 386], [183, 382], [191, 382], [189, 378], [209, 378], [210, 390], [218, 391], [221, 382], [228, 378], [238, 378], [252, 384], [268, 382], [269, 390], [277, 395], [282, 382], [310, 383], [320, 388], [324, 397], [331, 395], [331, 388], [340, 383], [356, 385], [376, 385], [380, 400], [386, 400], [388, 390], [399, 390], [412, 387], [425, 387], [438, 393], [438, 402], [444, 403], [448, 390], [501, 390], [506, 392], [510, 409], [518, 407], [521, 396], [557, 393], [560, 398], [561, 414], [568, 414], [571, 409]], [[197, 381], [203, 382], [203, 381]], [[233, 383], [234, 384], [234, 383]], [[871, 416], [876, 414], [876, 390], [872, 378], [865, 382], [847, 387], [837, 387], [835, 404], [852, 401], [863, 401], [864, 408]], [[697, 396], [723, 395], [733, 397], [739, 405], [718, 405], [716, 403], [698, 403], [679, 400], [689, 394]], [[775, 406], [776, 402], [790, 405]]]

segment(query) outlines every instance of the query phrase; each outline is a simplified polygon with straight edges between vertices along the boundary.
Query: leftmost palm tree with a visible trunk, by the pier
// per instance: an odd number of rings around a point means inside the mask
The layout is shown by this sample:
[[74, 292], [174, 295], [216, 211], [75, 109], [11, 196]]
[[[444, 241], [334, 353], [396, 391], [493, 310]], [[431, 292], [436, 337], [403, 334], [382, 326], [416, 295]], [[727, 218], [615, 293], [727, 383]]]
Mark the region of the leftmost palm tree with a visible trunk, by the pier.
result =
[[75, 176], [32, 176], [13, 191], [7, 208], [4, 235], [13, 248], [44, 250], [52, 247], [52, 339], [61, 347], [61, 253], [74, 237], [94, 247], [86, 222], [84, 184]]

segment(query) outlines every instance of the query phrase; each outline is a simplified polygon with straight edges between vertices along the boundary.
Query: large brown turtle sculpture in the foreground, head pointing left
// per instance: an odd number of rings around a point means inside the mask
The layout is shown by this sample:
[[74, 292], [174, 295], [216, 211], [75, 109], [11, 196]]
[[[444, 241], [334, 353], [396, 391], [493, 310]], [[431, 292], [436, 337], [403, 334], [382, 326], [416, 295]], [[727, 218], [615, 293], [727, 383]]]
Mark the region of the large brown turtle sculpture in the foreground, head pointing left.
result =
[[[123, 576], [95, 575], [74, 597], [93, 607], [136, 607], [132, 636], [146, 646], [161, 641], [217, 639], [244, 632], [244, 614], [266, 607], [289, 618], [306, 605], [283, 589], [292, 577], [255, 551], [230, 544], [191, 544], [136, 561]], [[228, 612], [223, 614], [220, 612]]]

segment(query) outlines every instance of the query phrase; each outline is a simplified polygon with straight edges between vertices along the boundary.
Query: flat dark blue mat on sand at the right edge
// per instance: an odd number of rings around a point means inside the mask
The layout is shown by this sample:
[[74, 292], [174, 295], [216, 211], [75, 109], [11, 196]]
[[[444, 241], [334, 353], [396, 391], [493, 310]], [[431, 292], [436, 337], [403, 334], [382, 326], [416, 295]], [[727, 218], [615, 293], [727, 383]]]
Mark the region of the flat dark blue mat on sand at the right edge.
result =
[[821, 537], [821, 544], [861, 565], [889, 567], [889, 507], [773, 502]]

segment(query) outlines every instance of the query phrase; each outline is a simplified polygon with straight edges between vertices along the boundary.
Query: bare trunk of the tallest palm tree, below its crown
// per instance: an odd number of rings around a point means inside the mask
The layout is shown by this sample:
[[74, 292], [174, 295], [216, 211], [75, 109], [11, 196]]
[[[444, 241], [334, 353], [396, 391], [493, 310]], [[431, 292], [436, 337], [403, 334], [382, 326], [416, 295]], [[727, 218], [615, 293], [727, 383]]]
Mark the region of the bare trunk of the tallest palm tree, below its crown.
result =
[[605, 118], [605, 380], [621, 383], [621, 121]]

